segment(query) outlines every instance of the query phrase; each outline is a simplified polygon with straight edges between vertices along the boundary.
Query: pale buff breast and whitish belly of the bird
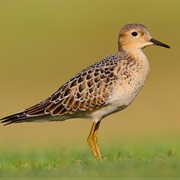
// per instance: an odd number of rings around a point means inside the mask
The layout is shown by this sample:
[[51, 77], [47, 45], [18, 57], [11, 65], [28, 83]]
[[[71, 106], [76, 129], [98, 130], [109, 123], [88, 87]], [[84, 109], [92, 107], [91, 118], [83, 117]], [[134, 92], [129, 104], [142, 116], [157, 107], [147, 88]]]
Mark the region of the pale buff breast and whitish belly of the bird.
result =
[[109, 97], [106, 101], [106, 105], [92, 111], [90, 117], [93, 121], [99, 121], [104, 117], [114, 112], [120, 111], [130, 105], [135, 99], [136, 95], [144, 85], [149, 74], [149, 63], [147, 60], [139, 62], [139, 68], [137, 64], [135, 67], [131, 67], [123, 72], [124, 69], [119, 71], [118, 80], [114, 85]]

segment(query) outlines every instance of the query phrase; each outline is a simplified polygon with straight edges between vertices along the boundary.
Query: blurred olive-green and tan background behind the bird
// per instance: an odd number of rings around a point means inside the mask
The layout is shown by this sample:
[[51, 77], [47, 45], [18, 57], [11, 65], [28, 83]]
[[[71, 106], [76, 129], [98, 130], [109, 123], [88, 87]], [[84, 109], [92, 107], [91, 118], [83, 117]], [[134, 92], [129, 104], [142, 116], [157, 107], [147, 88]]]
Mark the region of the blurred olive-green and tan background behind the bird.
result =
[[[100, 147], [180, 139], [180, 1], [1, 1], [0, 117], [44, 100], [78, 71], [117, 52], [120, 28], [142, 23], [171, 49], [144, 50], [151, 73], [127, 109], [103, 120]], [[0, 148], [83, 147], [92, 122], [0, 127]], [[117, 147], [117, 146], [116, 146]]]

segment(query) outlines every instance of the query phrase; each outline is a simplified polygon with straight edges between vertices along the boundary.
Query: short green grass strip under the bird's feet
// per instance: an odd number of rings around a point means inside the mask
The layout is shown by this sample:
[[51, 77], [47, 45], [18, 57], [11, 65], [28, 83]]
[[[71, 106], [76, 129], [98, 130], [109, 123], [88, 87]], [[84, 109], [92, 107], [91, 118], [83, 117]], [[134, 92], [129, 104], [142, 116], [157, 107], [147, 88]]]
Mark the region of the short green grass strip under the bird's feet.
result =
[[106, 147], [97, 162], [88, 149], [1, 150], [0, 177], [177, 178], [180, 144]]

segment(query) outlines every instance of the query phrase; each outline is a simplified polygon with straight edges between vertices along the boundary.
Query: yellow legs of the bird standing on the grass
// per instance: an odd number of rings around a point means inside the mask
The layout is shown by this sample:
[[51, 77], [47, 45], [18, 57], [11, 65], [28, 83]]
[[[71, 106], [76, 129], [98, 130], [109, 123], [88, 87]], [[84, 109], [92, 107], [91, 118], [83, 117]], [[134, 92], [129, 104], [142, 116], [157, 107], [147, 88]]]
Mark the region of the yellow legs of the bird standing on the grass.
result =
[[100, 152], [99, 147], [98, 147], [98, 141], [97, 141], [97, 131], [98, 131], [100, 122], [101, 121], [98, 121], [97, 123], [93, 122], [92, 127], [91, 127], [91, 131], [90, 131], [88, 139], [87, 139], [89, 147], [90, 147], [90, 149], [91, 149], [96, 160], [102, 159], [101, 152]]

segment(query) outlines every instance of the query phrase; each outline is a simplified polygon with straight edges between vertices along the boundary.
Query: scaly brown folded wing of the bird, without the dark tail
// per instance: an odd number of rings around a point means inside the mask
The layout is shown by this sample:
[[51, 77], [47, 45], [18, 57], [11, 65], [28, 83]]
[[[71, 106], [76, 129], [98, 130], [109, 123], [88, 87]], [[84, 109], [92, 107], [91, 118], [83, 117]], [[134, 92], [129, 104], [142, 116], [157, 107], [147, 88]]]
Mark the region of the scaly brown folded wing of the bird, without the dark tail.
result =
[[106, 105], [118, 78], [115, 72], [118, 61], [106, 62], [96, 63], [69, 80], [51, 97], [46, 112], [52, 115], [74, 114]]

